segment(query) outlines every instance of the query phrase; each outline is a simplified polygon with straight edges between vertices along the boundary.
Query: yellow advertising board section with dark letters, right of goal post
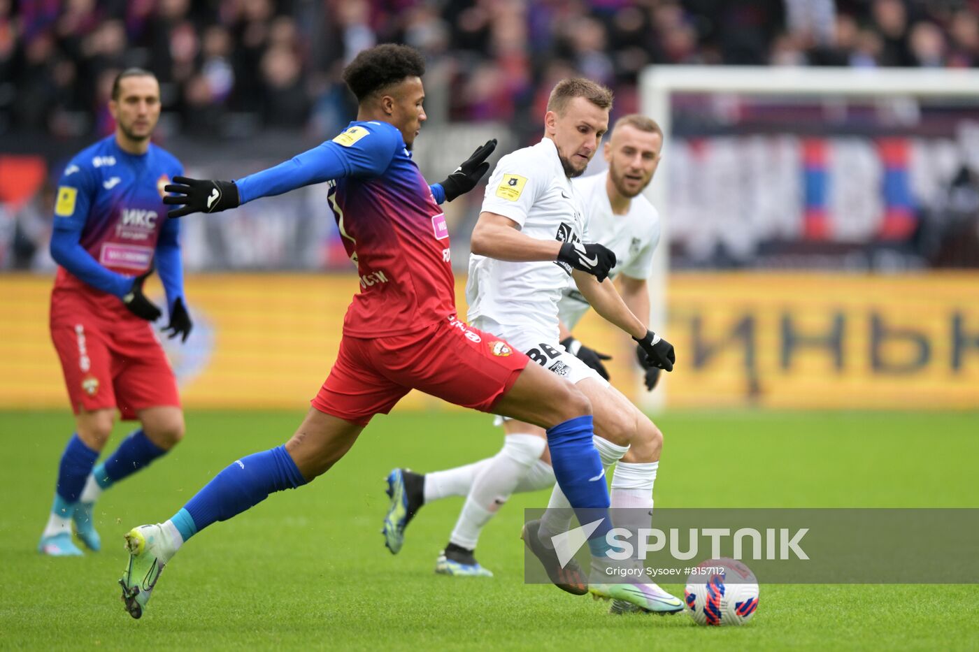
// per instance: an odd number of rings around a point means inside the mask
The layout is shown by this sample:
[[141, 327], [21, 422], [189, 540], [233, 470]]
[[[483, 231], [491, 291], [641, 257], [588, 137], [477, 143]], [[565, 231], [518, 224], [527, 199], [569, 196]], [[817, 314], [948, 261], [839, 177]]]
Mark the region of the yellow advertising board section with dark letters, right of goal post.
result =
[[979, 408], [979, 274], [676, 274], [668, 404]]

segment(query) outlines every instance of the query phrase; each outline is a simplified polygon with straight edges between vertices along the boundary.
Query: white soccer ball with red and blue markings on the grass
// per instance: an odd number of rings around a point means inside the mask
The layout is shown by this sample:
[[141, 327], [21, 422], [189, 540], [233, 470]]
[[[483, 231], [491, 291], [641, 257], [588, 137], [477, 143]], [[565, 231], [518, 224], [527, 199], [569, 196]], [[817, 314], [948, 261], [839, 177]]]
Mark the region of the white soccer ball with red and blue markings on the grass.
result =
[[758, 580], [739, 561], [709, 559], [687, 578], [683, 600], [697, 625], [744, 625], [758, 608]]

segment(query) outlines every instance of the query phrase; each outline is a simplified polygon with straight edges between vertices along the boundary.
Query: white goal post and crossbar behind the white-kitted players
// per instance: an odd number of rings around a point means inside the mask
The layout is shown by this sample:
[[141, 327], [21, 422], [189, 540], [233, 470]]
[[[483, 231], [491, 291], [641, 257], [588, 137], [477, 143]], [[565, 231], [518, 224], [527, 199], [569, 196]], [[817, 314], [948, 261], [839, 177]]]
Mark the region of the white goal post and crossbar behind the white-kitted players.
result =
[[[670, 268], [670, 145], [676, 94], [696, 93], [737, 96], [772, 96], [811, 99], [873, 98], [979, 98], [979, 71], [934, 69], [850, 69], [779, 67], [652, 66], [639, 79], [640, 110], [659, 122], [666, 136], [666, 161], [646, 190], [646, 196], [662, 219], [660, 246], [653, 261], [650, 288], [650, 325], [665, 328], [667, 274]], [[979, 110], [977, 110], [979, 120]], [[669, 339], [669, 333], [667, 333]], [[678, 351], [679, 364], [687, 351]], [[682, 366], [680, 366], [682, 368]], [[644, 397], [643, 407], [661, 408], [663, 389]]]

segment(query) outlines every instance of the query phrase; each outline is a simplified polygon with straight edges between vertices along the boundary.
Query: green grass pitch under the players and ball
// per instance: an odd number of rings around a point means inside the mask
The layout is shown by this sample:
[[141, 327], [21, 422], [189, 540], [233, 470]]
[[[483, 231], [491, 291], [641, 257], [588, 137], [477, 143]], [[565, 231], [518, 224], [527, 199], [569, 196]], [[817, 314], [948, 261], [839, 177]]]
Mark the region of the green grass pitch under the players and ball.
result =
[[[383, 477], [394, 466], [435, 470], [494, 453], [499, 434], [469, 413], [378, 418], [311, 486], [195, 536], [143, 619], [131, 620], [116, 584], [122, 534], [168, 518], [228, 463], [285, 441], [302, 416], [189, 413], [185, 442], [100, 501], [105, 549], [49, 559], [35, 546], [70, 414], [0, 413], [0, 648], [931, 650], [979, 641], [976, 585], [763, 585], [744, 628], [610, 617], [607, 603], [523, 583], [522, 508], [543, 506], [543, 492], [514, 496], [485, 532], [479, 558], [491, 580], [432, 573], [458, 498], [426, 506], [393, 557], [378, 532]], [[658, 506], [979, 507], [976, 413], [671, 413], [657, 422], [667, 437]], [[737, 495], [734, 473], [751, 479]]]

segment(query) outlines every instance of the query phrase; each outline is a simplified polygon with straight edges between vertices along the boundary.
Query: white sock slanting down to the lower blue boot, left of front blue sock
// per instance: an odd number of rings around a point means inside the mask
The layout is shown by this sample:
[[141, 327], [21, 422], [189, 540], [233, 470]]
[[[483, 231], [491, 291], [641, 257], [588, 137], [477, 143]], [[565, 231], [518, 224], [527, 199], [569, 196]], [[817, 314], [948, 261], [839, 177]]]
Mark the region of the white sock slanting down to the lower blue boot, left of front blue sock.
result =
[[448, 540], [470, 550], [476, 548], [480, 533], [539, 461], [546, 440], [536, 435], [507, 435], [503, 448], [473, 482], [466, 503]]

